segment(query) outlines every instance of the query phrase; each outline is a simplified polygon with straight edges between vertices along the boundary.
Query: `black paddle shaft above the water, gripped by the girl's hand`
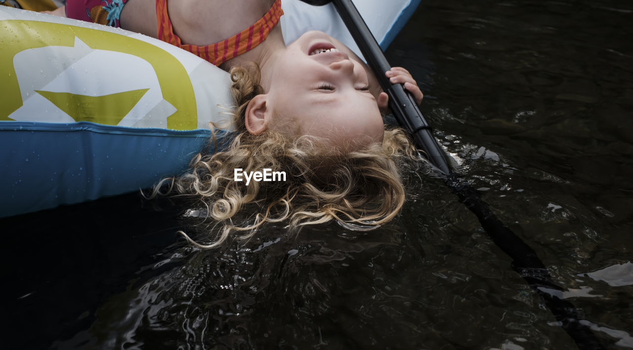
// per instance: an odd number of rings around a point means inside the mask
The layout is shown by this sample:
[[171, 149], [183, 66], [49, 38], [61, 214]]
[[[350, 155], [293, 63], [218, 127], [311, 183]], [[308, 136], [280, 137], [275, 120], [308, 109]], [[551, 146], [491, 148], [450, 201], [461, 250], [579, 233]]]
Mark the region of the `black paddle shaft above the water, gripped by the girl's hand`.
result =
[[373, 37], [363, 17], [358, 13], [354, 3], [351, 0], [334, 0], [332, 3], [339, 12], [343, 23], [348, 27], [361, 53], [367, 59], [367, 64], [375, 73], [380, 87], [389, 95], [389, 109], [394, 113], [399, 125], [411, 132], [413, 142], [426, 153], [430, 163], [439, 168], [442, 173], [449, 175], [451, 167], [446, 160], [446, 153], [437, 143], [431, 127], [422, 116], [415, 99], [404, 89], [403, 84], [391, 84], [389, 78], [385, 76], [385, 72], [391, 70], [391, 65], [389, 65], [380, 45]]

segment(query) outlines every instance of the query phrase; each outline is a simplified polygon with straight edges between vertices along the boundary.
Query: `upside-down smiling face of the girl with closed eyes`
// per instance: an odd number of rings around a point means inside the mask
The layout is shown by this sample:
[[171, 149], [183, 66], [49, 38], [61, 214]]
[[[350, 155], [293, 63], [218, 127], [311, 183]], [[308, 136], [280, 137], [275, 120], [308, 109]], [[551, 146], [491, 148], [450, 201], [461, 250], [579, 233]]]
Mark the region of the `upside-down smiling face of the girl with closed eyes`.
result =
[[307, 32], [273, 66], [268, 127], [313, 135], [332, 146], [356, 148], [382, 142], [384, 126], [368, 77], [348, 47], [323, 32]]

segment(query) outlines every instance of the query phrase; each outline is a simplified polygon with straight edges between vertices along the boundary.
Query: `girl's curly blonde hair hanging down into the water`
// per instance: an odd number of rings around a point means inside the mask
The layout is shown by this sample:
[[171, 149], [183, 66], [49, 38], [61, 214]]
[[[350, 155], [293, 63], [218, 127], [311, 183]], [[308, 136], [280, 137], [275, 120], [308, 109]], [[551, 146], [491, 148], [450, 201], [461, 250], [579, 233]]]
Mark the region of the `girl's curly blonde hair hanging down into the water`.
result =
[[[225, 242], [232, 232], [238, 239], [252, 237], [265, 223], [289, 220], [292, 228], [336, 220], [346, 227], [379, 227], [396, 216], [404, 204], [400, 163], [418, 159], [417, 150], [400, 128], [385, 130], [382, 144], [354, 151], [336, 151], [311, 136], [289, 137], [265, 131], [251, 135], [244, 126], [246, 106], [263, 94], [258, 68], [232, 68], [231, 91], [237, 108], [237, 135], [228, 147], [213, 154], [197, 154], [189, 172], [161, 180], [153, 194], [176, 194], [206, 208], [206, 218], [220, 230], [209, 244]], [[215, 126], [215, 125], [213, 125]], [[217, 145], [215, 131], [213, 144]], [[234, 169], [255, 172], [272, 169], [287, 174], [285, 182], [234, 181]], [[327, 174], [327, 175], [326, 175]], [[253, 211], [250, 211], [253, 210]], [[253, 213], [245, 225], [236, 225], [238, 213]]]

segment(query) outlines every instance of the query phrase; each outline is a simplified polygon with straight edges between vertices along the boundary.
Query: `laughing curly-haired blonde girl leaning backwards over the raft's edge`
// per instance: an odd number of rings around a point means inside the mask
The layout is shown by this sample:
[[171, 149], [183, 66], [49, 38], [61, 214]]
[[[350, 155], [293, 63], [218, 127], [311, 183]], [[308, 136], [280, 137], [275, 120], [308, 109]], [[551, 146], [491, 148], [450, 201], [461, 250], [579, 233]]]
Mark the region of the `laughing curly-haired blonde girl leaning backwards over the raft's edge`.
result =
[[[285, 46], [280, 6], [280, 0], [66, 1], [67, 16], [157, 37], [230, 72], [239, 134], [226, 151], [198, 154], [191, 172], [163, 180], [153, 192], [193, 196], [206, 206], [223, 228], [204, 247], [221, 244], [232, 230], [248, 238], [263, 223], [286, 219], [293, 227], [329, 220], [377, 227], [404, 203], [397, 163], [415, 158], [415, 149], [402, 130], [385, 131], [380, 110], [387, 94], [356, 54], [323, 32]], [[422, 101], [406, 70], [385, 74]], [[246, 185], [234, 180], [237, 168], [285, 172], [287, 180]], [[238, 227], [233, 219], [240, 212], [256, 214]]]

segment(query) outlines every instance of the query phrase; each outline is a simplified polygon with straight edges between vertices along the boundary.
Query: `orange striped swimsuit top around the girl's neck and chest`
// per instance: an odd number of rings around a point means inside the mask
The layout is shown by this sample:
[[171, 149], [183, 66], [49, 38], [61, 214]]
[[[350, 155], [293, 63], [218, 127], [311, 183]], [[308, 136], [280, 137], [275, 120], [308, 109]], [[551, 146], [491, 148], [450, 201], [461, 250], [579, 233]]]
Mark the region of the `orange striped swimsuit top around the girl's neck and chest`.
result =
[[279, 23], [279, 18], [284, 14], [281, 9], [281, 0], [275, 0], [273, 6], [266, 14], [242, 32], [229, 39], [206, 46], [182, 44], [180, 37], [174, 34], [172, 22], [167, 13], [167, 0], [156, 0], [156, 19], [158, 20], [158, 39], [178, 46], [182, 49], [206, 59], [216, 66], [231, 58], [239, 56], [258, 46], [266, 39], [268, 33]]

